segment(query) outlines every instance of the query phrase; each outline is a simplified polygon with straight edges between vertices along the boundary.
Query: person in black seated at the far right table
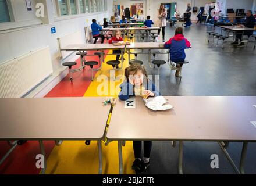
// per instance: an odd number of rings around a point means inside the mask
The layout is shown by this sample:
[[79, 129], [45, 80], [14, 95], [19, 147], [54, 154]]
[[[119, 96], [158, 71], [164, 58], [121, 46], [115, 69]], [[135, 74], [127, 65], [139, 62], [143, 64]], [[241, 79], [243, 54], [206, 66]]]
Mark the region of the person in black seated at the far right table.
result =
[[[247, 12], [246, 12], [246, 23], [244, 23], [244, 25], [242, 24], [241, 27], [254, 28], [254, 24], [255, 24], [255, 17], [253, 16], [253, 13], [251, 12], [251, 10], [247, 10]], [[236, 33], [236, 41], [232, 42], [231, 44], [232, 45], [237, 45], [238, 40], [240, 40], [241, 43], [238, 45], [238, 47], [244, 47], [243, 35], [247, 35], [248, 37], [250, 37], [251, 35], [253, 35], [253, 30], [244, 31], [244, 32], [238, 31]]]

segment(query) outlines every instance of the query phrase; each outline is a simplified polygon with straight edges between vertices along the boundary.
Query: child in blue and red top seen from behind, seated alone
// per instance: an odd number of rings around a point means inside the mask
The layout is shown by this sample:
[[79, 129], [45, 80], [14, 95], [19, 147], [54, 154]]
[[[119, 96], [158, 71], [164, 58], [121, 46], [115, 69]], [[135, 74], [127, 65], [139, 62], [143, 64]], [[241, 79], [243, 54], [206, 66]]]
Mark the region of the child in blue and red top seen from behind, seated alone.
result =
[[[186, 58], [185, 49], [190, 48], [190, 42], [184, 38], [183, 28], [177, 27], [175, 30], [175, 36], [170, 38], [169, 41], [165, 42], [164, 47], [169, 48], [170, 60], [172, 62], [183, 62]], [[176, 64], [176, 73], [175, 76], [180, 76], [180, 70], [183, 64]]]

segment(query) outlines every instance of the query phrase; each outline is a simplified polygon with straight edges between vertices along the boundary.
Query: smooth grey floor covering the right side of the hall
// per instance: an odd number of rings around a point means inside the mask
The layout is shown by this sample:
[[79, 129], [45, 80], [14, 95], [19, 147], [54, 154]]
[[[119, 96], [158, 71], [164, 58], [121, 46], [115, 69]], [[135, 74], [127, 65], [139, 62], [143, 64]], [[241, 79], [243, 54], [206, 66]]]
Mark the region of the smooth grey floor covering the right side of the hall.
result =
[[[184, 65], [182, 81], [175, 78], [168, 65], [161, 66], [160, 91], [164, 96], [252, 96], [256, 95], [256, 50], [254, 40], [247, 47], [235, 48], [230, 45], [232, 38], [225, 41], [225, 48], [216, 47], [212, 39], [208, 44], [207, 30], [214, 29], [204, 24], [193, 24], [185, 28], [185, 37], [192, 48], [187, 49], [189, 64]], [[173, 37], [175, 27], [166, 27], [165, 40]], [[215, 31], [220, 32], [218, 28]], [[162, 35], [162, 34], [161, 34]], [[136, 38], [138, 42], [138, 38]], [[143, 42], [143, 40], [139, 40]], [[144, 41], [147, 41], [144, 39]], [[162, 39], [160, 40], [162, 41]], [[216, 41], [216, 40], [215, 40]], [[146, 55], [138, 55], [143, 60], [148, 74], [158, 71], [148, 67]], [[157, 55], [156, 59], [168, 60], [167, 55]], [[177, 174], [179, 143], [172, 148], [170, 142], [154, 141], [151, 152], [151, 165], [147, 174]], [[239, 166], [242, 143], [230, 142], [227, 151]], [[211, 169], [210, 156], [219, 156], [219, 169]], [[247, 174], [256, 174], [256, 143], [248, 143], [245, 164]], [[184, 174], [235, 174], [217, 142], [184, 142]]]

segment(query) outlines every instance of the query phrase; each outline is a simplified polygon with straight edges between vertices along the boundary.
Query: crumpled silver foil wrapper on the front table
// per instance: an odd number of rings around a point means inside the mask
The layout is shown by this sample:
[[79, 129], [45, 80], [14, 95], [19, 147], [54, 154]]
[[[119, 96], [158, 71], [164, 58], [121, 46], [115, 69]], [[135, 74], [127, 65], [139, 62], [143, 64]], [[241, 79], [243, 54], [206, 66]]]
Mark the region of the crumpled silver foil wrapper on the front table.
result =
[[145, 102], [145, 106], [147, 108], [158, 111], [158, 110], [169, 110], [173, 109], [173, 106], [170, 104], [164, 105], [168, 102], [163, 96], [157, 96], [155, 98], [143, 99]]

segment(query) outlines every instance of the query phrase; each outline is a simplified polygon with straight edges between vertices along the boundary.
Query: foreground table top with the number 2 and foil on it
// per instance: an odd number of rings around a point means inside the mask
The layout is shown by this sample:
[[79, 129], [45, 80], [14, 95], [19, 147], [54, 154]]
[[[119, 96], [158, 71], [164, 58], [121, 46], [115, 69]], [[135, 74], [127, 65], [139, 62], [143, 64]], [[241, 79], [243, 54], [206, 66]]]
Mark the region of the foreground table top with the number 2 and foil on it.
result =
[[256, 96], [169, 96], [172, 110], [154, 112], [136, 97], [113, 108], [110, 140], [256, 141]]

